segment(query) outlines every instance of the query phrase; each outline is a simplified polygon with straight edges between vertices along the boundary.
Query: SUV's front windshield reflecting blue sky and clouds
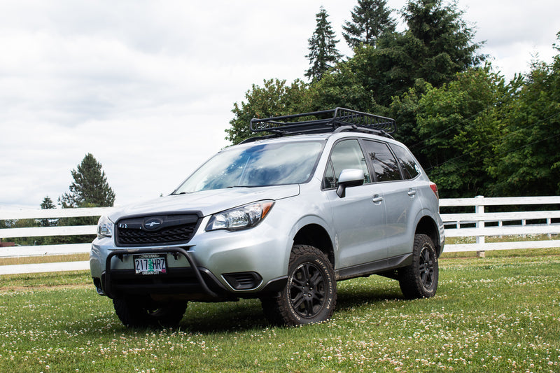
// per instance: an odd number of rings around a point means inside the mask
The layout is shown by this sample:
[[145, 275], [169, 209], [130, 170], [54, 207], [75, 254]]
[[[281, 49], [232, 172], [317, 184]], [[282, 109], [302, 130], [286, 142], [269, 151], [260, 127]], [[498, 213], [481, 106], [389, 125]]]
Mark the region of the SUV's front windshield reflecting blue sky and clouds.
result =
[[305, 183], [311, 178], [322, 148], [323, 143], [318, 141], [232, 147], [204, 163], [174, 194]]

